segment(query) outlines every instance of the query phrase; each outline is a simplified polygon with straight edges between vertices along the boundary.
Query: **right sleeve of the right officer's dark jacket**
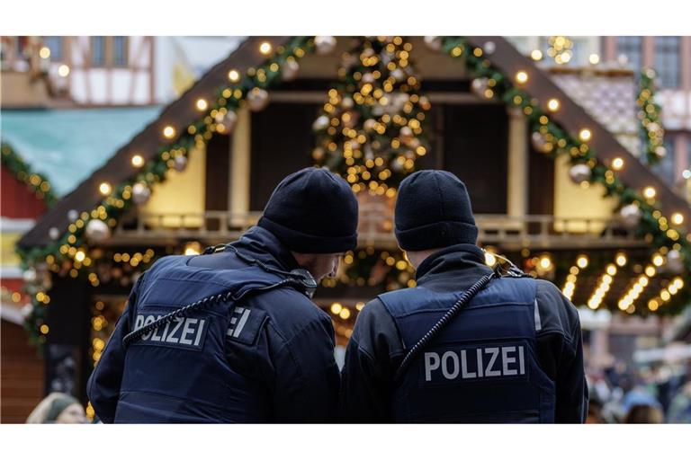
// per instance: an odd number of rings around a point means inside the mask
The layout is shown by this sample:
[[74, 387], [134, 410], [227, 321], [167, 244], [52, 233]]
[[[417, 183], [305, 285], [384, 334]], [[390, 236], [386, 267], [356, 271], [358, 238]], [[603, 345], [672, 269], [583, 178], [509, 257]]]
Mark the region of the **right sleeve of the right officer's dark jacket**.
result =
[[552, 283], [538, 285], [542, 329], [537, 333], [540, 364], [556, 385], [557, 423], [584, 423], [588, 384], [579, 312]]

